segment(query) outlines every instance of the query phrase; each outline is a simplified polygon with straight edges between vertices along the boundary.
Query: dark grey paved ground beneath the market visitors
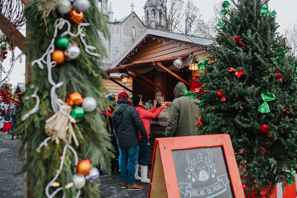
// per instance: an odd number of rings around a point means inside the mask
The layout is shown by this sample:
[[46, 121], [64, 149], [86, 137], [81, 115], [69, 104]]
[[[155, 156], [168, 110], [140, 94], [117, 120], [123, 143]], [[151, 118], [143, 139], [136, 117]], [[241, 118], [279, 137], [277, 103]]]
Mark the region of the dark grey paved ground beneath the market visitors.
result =
[[[16, 156], [19, 140], [10, 140], [11, 136], [0, 133], [0, 198], [24, 198], [24, 174], [14, 176], [23, 166]], [[128, 191], [121, 188], [119, 174], [110, 176], [103, 169], [100, 176], [99, 195], [105, 198], [147, 198], [148, 184], [144, 190]], [[137, 184], [141, 185], [140, 182]]]

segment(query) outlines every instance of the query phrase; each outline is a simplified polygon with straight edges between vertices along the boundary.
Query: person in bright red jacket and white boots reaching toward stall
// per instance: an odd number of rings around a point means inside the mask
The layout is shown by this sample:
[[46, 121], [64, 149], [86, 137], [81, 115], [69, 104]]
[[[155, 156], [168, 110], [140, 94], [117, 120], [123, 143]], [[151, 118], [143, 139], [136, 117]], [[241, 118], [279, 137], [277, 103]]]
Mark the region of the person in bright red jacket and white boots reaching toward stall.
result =
[[[163, 107], [160, 104], [155, 105], [152, 109], [149, 111], [146, 109], [146, 107], [143, 104], [142, 99], [139, 96], [134, 96], [131, 98], [133, 101], [133, 106], [135, 106], [139, 117], [142, 119], [145, 128], [147, 130], [147, 133], [149, 135], [150, 132], [150, 119], [156, 118], [160, 112], [163, 110]], [[142, 136], [139, 133], [139, 139], [141, 139]], [[149, 138], [149, 137], [148, 137]], [[141, 177], [138, 176], [138, 170], [139, 170], [139, 163], [136, 165], [136, 171], [135, 171], [135, 179], [141, 180], [141, 183], [149, 183], [148, 179], [148, 153], [149, 153], [149, 145], [148, 145], [148, 139], [144, 141], [139, 141], [139, 152], [140, 157], [138, 159], [138, 162], [140, 162], [141, 159]]]

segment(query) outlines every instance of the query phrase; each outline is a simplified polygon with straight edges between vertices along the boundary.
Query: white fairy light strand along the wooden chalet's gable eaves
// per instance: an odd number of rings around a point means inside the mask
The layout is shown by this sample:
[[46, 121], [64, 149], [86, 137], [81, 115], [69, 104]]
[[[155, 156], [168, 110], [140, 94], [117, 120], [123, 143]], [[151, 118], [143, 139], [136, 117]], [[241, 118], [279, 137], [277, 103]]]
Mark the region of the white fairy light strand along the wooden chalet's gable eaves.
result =
[[[193, 45], [189, 45], [189, 44], [177, 44], [176, 42], [173, 42], [172, 40], [171, 41], [166, 41], [165, 39], [159, 39], [159, 38], [156, 38], [156, 37], [154, 37], [154, 36], [151, 36], [151, 35], [147, 35], [146, 36], [146, 38], [147, 37], [150, 37], [150, 38], [152, 38], [152, 40], [157, 40], [158, 42], [162, 42], [163, 44], [166, 44], [166, 43], [169, 43], [170, 45], [171, 44], [174, 44], [175, 45], [175, 47], [179, 47], [179, 46], [188, 46], [188, 48], [191, 48], [191, 47], [195, 47], [196, 49], [197, 49], [197, 47], [200, 47], [201, 49], [203, 48], [203, 49], [205, 49], [205, 50], [209, 50], [210, 48], [209, 48], [209, 46], [207, 46], [207, 45], [198, 45], [198, 44], [193, 44]], [[136, 47], [136, 49], [133, 49], [127, 56], [126, 56], [126, 59], [123, 61], [123, 62], [121, 62], [119, 65], [122, 65], [122, 64], [124, 64], [125, 62], [128, 62], [128, 58], [129, 59], [131, 59], [131, 55], [134, 55], [134, 52], [137, 52], [137, 49], [139, 48], [139, 47], [141, 47], [142, 45], [142, 43], [143, 42], [146, 42], [145, 40], [146, 40], [146, 38], [144, 38], [141, 42], [139, 42], [139, 44], [137, 45], [137, 47]]]

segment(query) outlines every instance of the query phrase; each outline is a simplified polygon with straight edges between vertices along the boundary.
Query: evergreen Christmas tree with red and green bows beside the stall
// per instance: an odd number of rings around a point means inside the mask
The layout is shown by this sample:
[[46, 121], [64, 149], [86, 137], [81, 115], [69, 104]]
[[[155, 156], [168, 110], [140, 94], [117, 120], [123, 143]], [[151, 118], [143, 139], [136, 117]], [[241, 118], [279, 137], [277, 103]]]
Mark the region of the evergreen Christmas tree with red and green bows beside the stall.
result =
[[[223, 2], [218, 35], [198, 80], [198, 135], [229, 134], [247, 194], [292, 184], [297, 159], [296, 59], [268, 0]], [[229, 6], [229, 7], [228, 7]], [[287, 184], [286, 184], [287, 185]]]

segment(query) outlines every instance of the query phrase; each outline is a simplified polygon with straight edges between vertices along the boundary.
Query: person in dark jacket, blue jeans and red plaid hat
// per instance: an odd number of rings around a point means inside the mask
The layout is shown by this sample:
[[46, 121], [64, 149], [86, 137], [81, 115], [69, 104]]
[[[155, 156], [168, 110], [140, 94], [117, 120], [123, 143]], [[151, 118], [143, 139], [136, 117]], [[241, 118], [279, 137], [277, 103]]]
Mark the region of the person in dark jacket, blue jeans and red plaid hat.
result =
[[[139, 152], [138, 131], [144, 141], [148, 135], [146, 128], [140, 119], [138, 112], [128, 100], [128, 94], [122, 92], [118, 95], [115, 110], [112, 113], [113, 129], [118, 137], [119, 147], [121, 150], [121, 182], [122, 188], [128, 186], [129, 191], [138, 191], [144, 189], [135, 182], [135, 170]], [[128, 163], [129, 159], [129, 163]], [[128, 182], [127, 182], [128, 166]]]

